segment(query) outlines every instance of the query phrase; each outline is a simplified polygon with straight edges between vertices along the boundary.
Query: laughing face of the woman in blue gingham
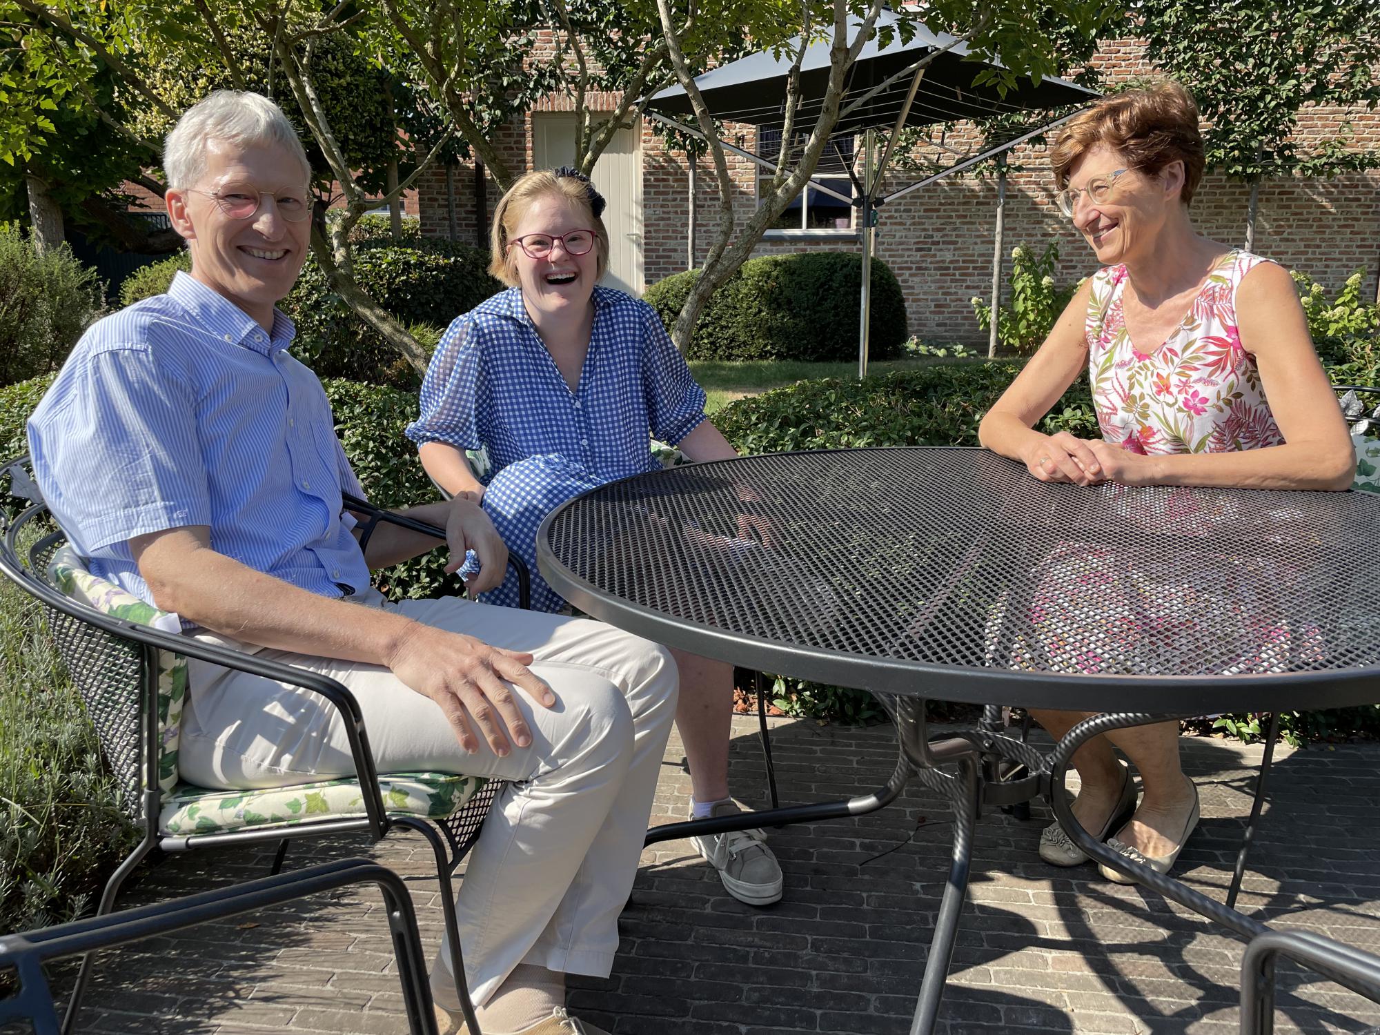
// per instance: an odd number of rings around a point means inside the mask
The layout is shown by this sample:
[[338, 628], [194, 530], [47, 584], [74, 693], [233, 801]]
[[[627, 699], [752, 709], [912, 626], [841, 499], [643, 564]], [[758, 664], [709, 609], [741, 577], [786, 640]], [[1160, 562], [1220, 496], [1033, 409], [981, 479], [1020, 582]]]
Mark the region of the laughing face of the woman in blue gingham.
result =
[[[570, 204], [559, 195], [538, 197], [523, 213], [508, 239], [511, 241], [529, 233], [546, 233], [552, 237], [571, 230], [591, 229], [589, 213], [582, 206]], [[537, 323], [549, 316], [582, 316], [599, 280], [599, 248], [595, 246], [584, 255], [571, 255], [558, 243], [545, 258], [534, 259], [519, 244], [508, 248], [508, 262], [522, 287], [523, 304]]]

